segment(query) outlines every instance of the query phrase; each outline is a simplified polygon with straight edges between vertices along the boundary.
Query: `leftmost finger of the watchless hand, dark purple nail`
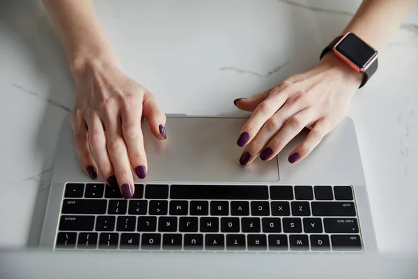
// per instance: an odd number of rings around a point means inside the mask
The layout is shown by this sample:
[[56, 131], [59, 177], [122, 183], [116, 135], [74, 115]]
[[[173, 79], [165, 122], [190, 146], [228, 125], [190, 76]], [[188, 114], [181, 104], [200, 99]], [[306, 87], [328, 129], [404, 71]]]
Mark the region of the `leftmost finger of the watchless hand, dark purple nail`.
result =
[[77, 157], [84, 171], [91, 177], [96, 179], [98, 177], [97, 167], [95, 161], [88, 149], [88, 134], [86, 122], [80, 115], [73, 114], [72, 116], [72, 131], [74, 135], [74, 145], [77, 151]]

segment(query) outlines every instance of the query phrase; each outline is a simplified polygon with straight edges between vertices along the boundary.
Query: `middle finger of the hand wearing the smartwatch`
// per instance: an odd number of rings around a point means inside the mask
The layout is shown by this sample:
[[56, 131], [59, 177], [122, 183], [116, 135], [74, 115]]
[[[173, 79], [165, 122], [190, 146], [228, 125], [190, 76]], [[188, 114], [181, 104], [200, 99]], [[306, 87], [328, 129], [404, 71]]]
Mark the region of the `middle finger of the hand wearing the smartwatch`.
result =
[[[297, 114], [300, 111], [300, 107], [290, 103], [286, 103], [280, 110], [278, 110], [268, 121], [266, 121], [242, 153], [248, 152], [251, 155], [251, 159], [247, 164], [255, 160], [256, 156], [260, 154], [261, 160], [267, 160], [272, 156], [272, 149], [264, 149], [264, 147], [272, 140], [272, 138], [279, 133], [279, 130], [283, 128], [284, 124], [291, 116]], [[263, 151], [261, 153], [261, 151]], [[245, 165], [247, 165], [245, 164]]]

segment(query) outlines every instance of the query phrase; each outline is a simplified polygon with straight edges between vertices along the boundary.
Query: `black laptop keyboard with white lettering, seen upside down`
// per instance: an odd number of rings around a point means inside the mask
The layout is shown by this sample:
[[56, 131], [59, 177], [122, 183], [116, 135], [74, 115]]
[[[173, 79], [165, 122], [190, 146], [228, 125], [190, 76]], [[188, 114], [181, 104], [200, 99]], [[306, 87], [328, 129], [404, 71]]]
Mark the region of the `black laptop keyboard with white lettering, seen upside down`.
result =
[[67, 183], [56, 249], [359, 251], [352, 186]]

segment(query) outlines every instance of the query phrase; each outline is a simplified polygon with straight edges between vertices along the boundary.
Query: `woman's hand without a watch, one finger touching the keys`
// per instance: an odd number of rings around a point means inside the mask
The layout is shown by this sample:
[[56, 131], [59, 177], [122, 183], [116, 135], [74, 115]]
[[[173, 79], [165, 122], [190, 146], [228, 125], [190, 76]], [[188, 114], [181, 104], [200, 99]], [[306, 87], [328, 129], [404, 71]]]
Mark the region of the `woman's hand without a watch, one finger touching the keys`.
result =
[[79, 161], [92, 179], [98, 171], [130, 198], [131, 167], [140, 179], [147, 171], [141, 117], [153, 135], [164, 140], [165, 114], [153, 94], [125, 75], [118, 63], [90, 59], [72, 66], [72, 73], [76, 95], [71, 124]]

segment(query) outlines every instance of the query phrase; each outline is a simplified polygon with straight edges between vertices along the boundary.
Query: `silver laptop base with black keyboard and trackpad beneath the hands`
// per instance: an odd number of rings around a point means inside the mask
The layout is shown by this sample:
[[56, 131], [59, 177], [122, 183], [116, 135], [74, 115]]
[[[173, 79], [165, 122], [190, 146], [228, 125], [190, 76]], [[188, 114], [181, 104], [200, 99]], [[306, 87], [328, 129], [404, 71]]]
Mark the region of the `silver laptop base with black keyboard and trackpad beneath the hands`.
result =
[[299, 163], [288, 154], [238, 163], [235, 116], [167, 117], [167, 140], [143, 123], [148, 173], [132, 199], [88, 178], [63, 123], [40, 239], [47, 250], [376, 251], [366, 183], [351, 119]]

